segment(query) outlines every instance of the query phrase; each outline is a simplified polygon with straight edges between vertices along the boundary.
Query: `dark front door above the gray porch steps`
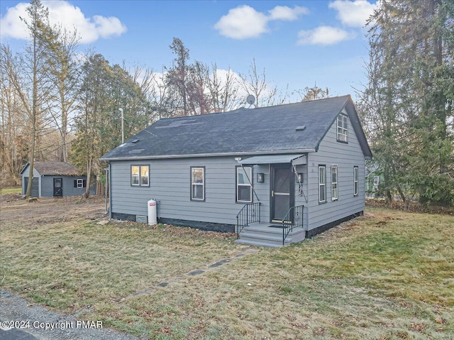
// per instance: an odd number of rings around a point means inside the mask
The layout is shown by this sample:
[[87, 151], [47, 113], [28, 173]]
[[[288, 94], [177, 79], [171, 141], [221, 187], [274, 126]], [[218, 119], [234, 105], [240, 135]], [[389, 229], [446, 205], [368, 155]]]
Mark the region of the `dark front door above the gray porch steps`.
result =
[[271, 170], [271, 220], [282, 221], [294, 204], [292, 168], [289, 164], [272, 165]]

